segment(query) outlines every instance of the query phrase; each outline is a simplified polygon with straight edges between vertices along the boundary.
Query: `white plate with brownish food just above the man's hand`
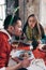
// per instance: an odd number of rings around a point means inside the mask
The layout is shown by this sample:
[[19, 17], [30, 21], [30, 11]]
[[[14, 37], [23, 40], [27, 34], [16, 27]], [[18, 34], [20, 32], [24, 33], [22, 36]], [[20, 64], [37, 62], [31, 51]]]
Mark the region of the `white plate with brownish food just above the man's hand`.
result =
[[29, 57], [31, 57], [31, 55], [32, 55], [31, 52], [29, 52], [29, 51], [22, 51], [22, 50], [16, 51], [16, 52], [15, 51], [11, 52], [12, 58], [17, 57], [19, 60], [24, 60], [25, 58], [29, 58]]

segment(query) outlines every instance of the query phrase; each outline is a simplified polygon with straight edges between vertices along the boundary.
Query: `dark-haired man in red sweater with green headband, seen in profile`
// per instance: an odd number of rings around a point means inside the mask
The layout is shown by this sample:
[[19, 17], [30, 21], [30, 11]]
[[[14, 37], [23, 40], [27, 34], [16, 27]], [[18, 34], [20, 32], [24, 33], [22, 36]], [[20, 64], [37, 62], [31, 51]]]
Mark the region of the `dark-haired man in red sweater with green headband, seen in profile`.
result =
[[[27, 68], [30, 64], [28, 59], [20, 61], [19, 64], [7, 67], [10, 53], [12, 51], [12, 45], [10, 40], [13, 36], [18, 38], [21, 34], [21, 19], [17, 16], [9, 15], [4, 20], [4, 29], [0, 29], [0, 70], [19, 70], [21, 68]], [[22, 70], [22, 69], [21, 69]]]

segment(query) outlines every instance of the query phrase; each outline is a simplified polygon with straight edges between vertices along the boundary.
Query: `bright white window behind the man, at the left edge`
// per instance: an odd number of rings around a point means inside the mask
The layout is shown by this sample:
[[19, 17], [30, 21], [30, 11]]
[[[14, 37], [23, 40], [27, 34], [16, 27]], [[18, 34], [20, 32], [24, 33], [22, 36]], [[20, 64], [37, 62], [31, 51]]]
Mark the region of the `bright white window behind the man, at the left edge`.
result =
[[4, 18], [5, 18], [5, 0], [0, 0], [0, 28], [3, 28]]

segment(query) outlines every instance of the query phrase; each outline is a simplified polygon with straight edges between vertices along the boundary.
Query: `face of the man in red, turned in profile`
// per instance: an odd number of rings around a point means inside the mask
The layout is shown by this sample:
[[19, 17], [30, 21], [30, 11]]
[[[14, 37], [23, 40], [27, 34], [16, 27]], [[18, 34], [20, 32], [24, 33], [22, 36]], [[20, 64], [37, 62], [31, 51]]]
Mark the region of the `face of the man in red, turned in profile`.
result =
[[15, 36], [17, 37], [21, 36], [21, 32], [22, 32], [21, 20], [16, 22], [16, 25], [14, 26], [14, 32], [15, 32]]

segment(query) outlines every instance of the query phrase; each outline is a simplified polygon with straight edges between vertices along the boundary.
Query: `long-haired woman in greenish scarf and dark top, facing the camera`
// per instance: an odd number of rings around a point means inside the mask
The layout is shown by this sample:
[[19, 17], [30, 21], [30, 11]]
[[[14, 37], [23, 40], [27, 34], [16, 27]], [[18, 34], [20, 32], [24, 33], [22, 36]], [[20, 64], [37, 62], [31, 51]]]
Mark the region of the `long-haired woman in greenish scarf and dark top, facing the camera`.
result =
[[27, 39], [29, 41], [32, 41], [34, 47], [37, 45], [36, 41], [40, 41], [45, 37], [44, 29], [42, 25], [37, 22], [34, 14], [31, 14], [28, 17], [22, 31], [26, 33]]

